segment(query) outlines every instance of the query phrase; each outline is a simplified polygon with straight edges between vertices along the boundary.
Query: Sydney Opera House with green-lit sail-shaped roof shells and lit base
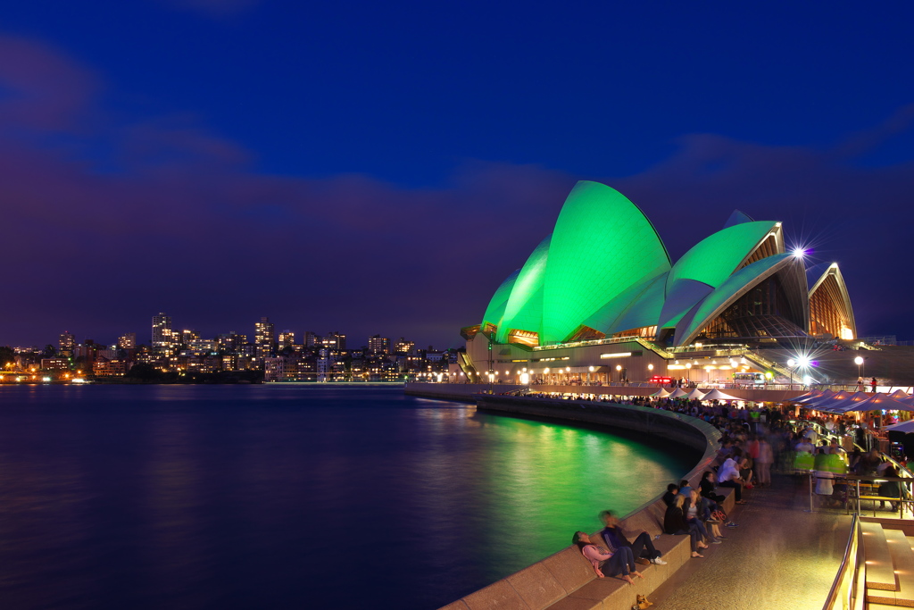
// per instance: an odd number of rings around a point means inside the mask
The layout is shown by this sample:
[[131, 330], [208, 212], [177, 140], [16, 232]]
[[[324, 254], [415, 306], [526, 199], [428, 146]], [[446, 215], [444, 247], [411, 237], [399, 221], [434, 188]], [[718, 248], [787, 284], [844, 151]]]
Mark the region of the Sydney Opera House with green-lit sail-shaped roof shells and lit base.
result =
[[[695, 379], [699, 370], [710, 380], [764, 369], [763, 358], [715, 358], [722, 350], [854, 339], [837, 264], [804, 263], [785, 250], [780, 222], [740, 211], [673, 262], [641, 209], [582, 181], [480, 323], [462, 329], [462, 368], [521, 382]], [[707, 358], [691, 358], [699, 353]]]

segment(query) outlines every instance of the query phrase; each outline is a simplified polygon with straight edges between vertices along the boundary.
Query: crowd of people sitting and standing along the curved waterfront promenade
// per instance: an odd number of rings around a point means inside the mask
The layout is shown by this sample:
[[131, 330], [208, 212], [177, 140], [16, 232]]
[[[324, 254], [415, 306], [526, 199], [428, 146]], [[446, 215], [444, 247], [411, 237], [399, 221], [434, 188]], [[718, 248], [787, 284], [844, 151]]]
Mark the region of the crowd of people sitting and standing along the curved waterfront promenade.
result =
[[[528, 394], [536, 396], [537, 394]], [[541, 394], [544, 398], [555, 398]], [[844, 483], [830, 478], [840, 473], [861, 476], [897, 477], [898, 471], [877, 449], [861, 451], [858, 446], [870, 446], [872, 433], [878, 423], [856, 420], [851, 415], [824, 420], [798, 420], [798, 413], [789, 405], [737, 408], [729, 402], [697, 401], [687, 398], [668, 399], [655, 397], [594, 396], [582, 394], [567, 397], [577, 401], [612, 401], [654, 409], [677, 412], [701, 419], [720, 431], [717, 455], [697, 489], [688, 481], [670, 484], [664, 494], [664, 533], [688, 536], [691, 556], [703, 558], [703, 551], [711, 544], [726, 540], [722, 528], [738, 527], [724, 513], [721, 503], [724, 496], [719, 487], [733, 489], [737, 504], [746, 504], [744, 490], [771, 486], [772, 469], [796, 473], [814, 471], [817, 477], [815, 493], [826, 505], [837, 505], [847, 500]], [[805, 413], [804, 413], [805, 415]], [[816, 423], [818, 425], [813, 425]], [[797, 425], [799, 424], [799, 428]], [[827, 434], [827, 440], [816, 432]], [[841, 442], [839, 442], [841, 439]], [[844, 443], [851, 451], [845, 450]], [[905, 498], [906, 484], [883, 481], [877, 494], [885, 498]], [[892, 510], [898, 501], [889, 501]], [[639, 532], [630, 541], [619, 527], [611, 511], [600, 513], [604, 529], [599, 540], [584, 532], [576, 532], [573, 543], [593, 564], [598, 576], [619, 576], [626, 583], [643, 578], [637, 564], [664, 563], [661, 552], [654, 548], [647, 532]]]

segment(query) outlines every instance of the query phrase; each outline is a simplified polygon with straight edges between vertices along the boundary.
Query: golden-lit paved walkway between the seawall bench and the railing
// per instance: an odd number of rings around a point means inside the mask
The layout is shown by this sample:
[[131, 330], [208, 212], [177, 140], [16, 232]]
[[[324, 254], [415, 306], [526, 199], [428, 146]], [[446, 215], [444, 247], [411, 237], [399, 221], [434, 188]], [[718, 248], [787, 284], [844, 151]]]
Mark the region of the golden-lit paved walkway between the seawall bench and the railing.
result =
[[851, 518], [809, 512], [806, 479], [774, 476], [752, 489], [721, 530], [723, 544], [693, 559], [650, 597], [652, 610], [820, 610], [844, 555]]

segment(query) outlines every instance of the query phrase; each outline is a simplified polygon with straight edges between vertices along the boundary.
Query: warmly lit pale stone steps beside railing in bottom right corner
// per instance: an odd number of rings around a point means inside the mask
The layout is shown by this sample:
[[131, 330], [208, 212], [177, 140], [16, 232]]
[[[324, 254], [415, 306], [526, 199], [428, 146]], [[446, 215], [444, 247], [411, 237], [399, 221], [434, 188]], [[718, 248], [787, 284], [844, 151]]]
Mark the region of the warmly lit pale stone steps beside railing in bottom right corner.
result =
[[866, 603], [870, 610], [914, 607], [914, 550], [902, 530], [863, 523]]

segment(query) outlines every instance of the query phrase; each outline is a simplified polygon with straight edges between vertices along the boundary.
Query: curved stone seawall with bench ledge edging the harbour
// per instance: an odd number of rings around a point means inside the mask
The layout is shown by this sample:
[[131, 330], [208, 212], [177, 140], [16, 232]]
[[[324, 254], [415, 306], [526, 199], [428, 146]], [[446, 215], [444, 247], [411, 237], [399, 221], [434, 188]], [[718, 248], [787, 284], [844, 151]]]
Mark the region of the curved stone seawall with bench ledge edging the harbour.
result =
[[[696, 466], [681, 477], [689, 480], [695, 487], [702, 473], [713, 462], [718, 447], [720, 433], [717, 428], [679, 413], [609, 402], [473, 395], [459, 390], [448, 391], [445, 388], [428, 386], [418, 388], [415, 384], [407, 386], [409, 394], [414, 396], [444, 398], [445, 394], [450, 394], [462, 395], [463, 400], [473, 398], [477, 408], [484, 412], [606, 426], [613, 431], [634, 433], [654, 441], [662, 438], [682, 445], [701, 455]], [[632, 534], [644, 530], [652, 536], [663, 531], [665, 506], [660, 497], [665, 489], [658, 491], [656, 498], [624, 516], [623, 530]], [[733, 508], [732, 495], [727, 492], [724, 495], [728, 496], [724, 506], [730, 511]], [[639, 581], [636, 587], [629, 587], [619, 579], [595, 579], [590, 562], [580, 555], [577, 548], [568, 547], [473, 594], [465, 595], [460, 600], [443, 606], [442, 610], [558, 610], [566, 607], [627, 610], [632, 607], [635, 594], [653, 593], [688, 561], [687, 536], [661, 536], [655, 544], [658, 550], [663, 551], [668, 564], [642, 567], [645, 579]]]

